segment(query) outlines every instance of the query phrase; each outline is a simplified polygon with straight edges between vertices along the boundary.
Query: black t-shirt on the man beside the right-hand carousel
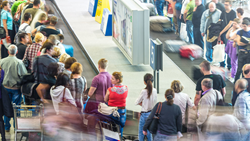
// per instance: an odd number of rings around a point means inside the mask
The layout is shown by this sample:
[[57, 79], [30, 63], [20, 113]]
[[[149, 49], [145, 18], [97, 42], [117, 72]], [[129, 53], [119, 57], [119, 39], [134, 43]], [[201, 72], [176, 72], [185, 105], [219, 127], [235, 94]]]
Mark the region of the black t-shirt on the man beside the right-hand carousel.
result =
[[[223, 80], [223, 78], [220, 75], [217, 74], [209, 74], [209, 75], [205, 75], [202, 78], [200, 78], [197, 83], [196, 83], [196, 91], [202, 91], [201, 89], [201, 81], [204, 78], [210, 78], [213, 80], [213, 89], [218, 90], [219, 92], [221, 92], [221, 89], [226, 87], [226, 83]], [[203, 91], [202, 91], [203, 92]]]

